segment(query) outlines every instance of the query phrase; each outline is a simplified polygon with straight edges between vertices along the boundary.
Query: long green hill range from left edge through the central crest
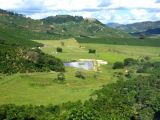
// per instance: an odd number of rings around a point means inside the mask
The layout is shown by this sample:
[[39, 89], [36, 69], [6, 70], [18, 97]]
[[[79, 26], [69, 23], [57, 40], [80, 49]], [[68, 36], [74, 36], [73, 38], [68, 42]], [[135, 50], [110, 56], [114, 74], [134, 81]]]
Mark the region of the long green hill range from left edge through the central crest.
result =
[[75, 36], [130, 37], [127, 33], [106, 27], [96, 19], [57, 15], [34, 20], [5, 10], [0, 10], [0, 31], [4, 31], [3, 34], [7, 34], [6, 36], [1, 35], [3, 38], [7, 37], [9, 33], [13, 33], [12, 36], [23, 36], [24, 40], [59, 39]]

